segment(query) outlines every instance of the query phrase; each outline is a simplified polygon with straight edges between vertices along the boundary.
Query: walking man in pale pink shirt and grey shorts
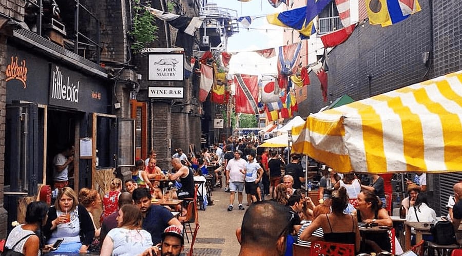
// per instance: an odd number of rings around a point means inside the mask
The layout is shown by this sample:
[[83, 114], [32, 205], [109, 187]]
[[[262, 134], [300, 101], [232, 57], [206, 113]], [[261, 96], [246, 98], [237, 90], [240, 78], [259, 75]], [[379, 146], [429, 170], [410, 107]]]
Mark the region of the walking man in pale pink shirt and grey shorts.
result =
[[247, 162], [241, 158], [241, 155], [242, 151], [236, 150], [234, 158], [229, 160], [226, 165], [226, 170], [228, 170], [226, 175], [228, 176], [227, 180], [230, 191], [228, 211], [233, 210], [234, 194], [236, 192], [238, 193], [239, 209], [244, 210], [244, 206], [242, 206], [242, 191], [244, 190], [245, 165]]

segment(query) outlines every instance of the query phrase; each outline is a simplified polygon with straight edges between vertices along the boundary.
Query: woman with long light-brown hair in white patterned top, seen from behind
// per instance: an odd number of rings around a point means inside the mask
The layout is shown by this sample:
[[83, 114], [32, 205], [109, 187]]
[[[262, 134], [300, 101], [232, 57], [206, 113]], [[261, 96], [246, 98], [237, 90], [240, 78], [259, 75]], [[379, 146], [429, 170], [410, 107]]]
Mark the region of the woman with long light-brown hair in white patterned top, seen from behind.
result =
[[123, 205], [117, 217], [118, 227], [107, 233], [100, 255], [138, 255], [151, 247], [151, 234], [141, 228], [141, 221], [140, 208], [132, 204]]

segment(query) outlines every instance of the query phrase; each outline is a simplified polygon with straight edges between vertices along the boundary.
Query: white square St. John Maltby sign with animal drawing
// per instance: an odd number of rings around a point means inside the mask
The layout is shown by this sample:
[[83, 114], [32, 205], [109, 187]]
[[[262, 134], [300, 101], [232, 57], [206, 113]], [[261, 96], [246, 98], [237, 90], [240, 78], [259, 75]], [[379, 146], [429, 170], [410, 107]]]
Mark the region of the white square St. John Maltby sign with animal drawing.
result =
[[148, 80], [182, 81], [183, 72], [183, 54], [149, 54]]

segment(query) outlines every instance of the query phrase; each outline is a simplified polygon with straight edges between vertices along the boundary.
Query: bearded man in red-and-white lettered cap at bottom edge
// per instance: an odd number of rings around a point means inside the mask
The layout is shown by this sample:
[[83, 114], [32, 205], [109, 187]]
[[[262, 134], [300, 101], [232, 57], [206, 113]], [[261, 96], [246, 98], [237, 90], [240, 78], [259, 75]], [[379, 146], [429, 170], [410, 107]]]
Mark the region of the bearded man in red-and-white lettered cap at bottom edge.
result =
[[182, 230], [175, 225], [171, 225], [162, 233], [162, 242], [145, 250], [141, 255], [178, 256], [183, 249], [184, 239], [182, 236]]

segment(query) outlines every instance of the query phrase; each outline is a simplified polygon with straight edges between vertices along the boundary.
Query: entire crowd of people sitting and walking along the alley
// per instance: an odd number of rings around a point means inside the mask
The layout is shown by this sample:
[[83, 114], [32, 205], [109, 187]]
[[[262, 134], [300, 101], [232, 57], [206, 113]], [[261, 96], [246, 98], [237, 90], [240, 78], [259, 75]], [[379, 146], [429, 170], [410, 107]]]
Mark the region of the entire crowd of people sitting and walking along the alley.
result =
[[[386, 231], [361, 237], [359, 229], [360, 223], [393, 226], [386, 209], [389, 202], [385, 195], [391, 194], [389, 175], [374, 174], [363, 179], [354, 173], [342, 175], [329, 167], [322, 168], [319, 201], [315, 202], [303, 185], [302, 157], [291, 154], [285, 159], [268, 148], [257, 156], [257, 143], [228, 139], [211, 150], [204, 148], [189, 156], [177, 148], [168, 173], [157, 166], [157, 154], [151, 151], [147, 159], [136, 161], [131, 179], [112, 179], [110, 190], [102, 197], [93, 189], [82, 188], [77, 194], [63, 186], [54, 205], [28, 205], [25, 223], [13, 228], [6, 245], [25, 255], [87, 253], [94, 248], [101, 255], [179, 255], [184, 249], [183, 226], [171, 209], [152, 204], [152, 199], [165, 195], [159, 182], [151, 181], [162, 177], [178, 182], [174, 197], [189, 199], [194, 198], [195, 181], [205, 181], [203, 175], [209, 175], [215, 184], [221, 184], [224, 176], [224, 190], [229, 192], [227, 211], [234, 210], [236, 194], [237, 209], [247, 209], [236, 231], [240, 255], [254, 255], [258, 250], [260, 255], [291, 255], [293, 243], [310, 246], [318, 240], [352, 244], [357, 253], [391, 251]], [[61, 167], [67, 163], [56, 161]], [[402, 218], [436, 222], [435, 211], [427, 202], [426, 185], [422, 173], [407, 181], [408, 197], [402, 200], [400, 209]], [[462, 183], [456, 183], [447, 205], [447, 218], [454, 225], [462, 220], [460, 198]], [[95, 215], [96, 209], [102, 209], [101, 217]], [[95, 223], [98, 217], [101, 225]], [[64, 239], [61, 245], [54, 247], [60, 239]], [[432, 237], [424, 239], [431, 241]]]

